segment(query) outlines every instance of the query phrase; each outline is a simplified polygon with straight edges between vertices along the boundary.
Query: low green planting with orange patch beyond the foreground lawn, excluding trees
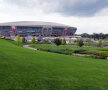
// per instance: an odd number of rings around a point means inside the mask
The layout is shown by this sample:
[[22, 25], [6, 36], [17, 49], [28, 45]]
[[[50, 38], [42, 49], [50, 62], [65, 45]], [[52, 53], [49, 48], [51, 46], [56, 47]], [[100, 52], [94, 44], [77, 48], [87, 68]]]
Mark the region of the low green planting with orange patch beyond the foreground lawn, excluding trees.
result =
[[[30, 47], [40, 49], [42, 51], [60, 53], [60, 54], [88, 54], [91, 56], [95, 55], [95, 58], [107, 58], [108, 56], [108, 48], [101, 47], [79, 47], [79, 46], [71, 46], [71, 45], [48, 45], [48, 44], [40, 44], [40, 45], [31, 45]], [[106, 57], [104, 57], [106, 56]]]

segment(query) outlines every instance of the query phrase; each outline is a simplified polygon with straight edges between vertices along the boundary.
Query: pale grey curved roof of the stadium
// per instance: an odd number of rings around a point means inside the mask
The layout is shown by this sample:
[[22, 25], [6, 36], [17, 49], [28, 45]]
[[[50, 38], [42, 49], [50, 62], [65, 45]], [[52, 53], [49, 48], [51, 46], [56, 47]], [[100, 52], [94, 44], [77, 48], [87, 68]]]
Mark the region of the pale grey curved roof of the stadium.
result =
[[[18, 22], [7, 22], [0, 23], [0, 26], [60, 26], [60, 27], [71, 27], [64, 24], [53, 23], [53, 22], [42, 22], [42, 21], [18, 21]], [[75, 28], [75, 27], [73, 27]]]

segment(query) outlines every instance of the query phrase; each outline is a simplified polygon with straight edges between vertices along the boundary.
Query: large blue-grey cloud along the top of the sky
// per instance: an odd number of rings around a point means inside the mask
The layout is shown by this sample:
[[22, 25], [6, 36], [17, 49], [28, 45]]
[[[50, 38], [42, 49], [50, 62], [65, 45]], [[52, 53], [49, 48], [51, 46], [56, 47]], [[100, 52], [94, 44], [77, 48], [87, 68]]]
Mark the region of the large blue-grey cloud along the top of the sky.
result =
[[108, 7], [108, 0], [5, 0], [20, 7], [65, 16], [93, 16]]

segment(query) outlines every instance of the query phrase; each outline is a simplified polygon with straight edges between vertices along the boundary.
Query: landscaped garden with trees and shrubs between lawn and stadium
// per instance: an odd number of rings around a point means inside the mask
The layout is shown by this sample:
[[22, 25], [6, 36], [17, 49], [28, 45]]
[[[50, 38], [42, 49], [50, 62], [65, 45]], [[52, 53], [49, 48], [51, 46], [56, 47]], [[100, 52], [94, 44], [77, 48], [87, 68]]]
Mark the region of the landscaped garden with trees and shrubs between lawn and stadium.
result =
[[[100, 59], [108, 59], [108, 43], [104, 42], [104, 40], [100, 39], [98, 43], [92, 43], [91, 39], [86, 40], [84, 42], [83, 39], [77, 39], [74, 43], [66, 43], [66, 39], [55, 38], [53, 43], [50, 42], [50, 39], [47, 38], [44, 42], [40, 40], [36, 40], [35, 37], [32, 38], [31, 42], [27, 42], [26, 38], [21, 38], [20, 35], [16, 36], [15, 41], [12, 39], [5, 40], [18, 45], [24, 46], [32, 49], [37, 49], [41, 51], [65, 54], [65, 55], [77, 55], [77, 56], [90, 56], [92, 58], [100, 58]], [[69, 40], [69, 42], [71, 42]], [[24, 46], [25, 47], [25, 46]]]

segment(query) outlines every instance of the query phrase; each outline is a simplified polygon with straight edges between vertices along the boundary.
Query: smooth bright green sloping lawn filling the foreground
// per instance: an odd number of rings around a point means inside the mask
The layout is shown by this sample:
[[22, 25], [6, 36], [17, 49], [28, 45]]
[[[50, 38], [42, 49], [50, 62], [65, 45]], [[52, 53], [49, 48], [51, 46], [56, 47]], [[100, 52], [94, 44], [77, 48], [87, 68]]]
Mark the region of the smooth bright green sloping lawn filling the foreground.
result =
[[0, 90], [108, 90], [108, 61], [34, 51], [0, 39]]

